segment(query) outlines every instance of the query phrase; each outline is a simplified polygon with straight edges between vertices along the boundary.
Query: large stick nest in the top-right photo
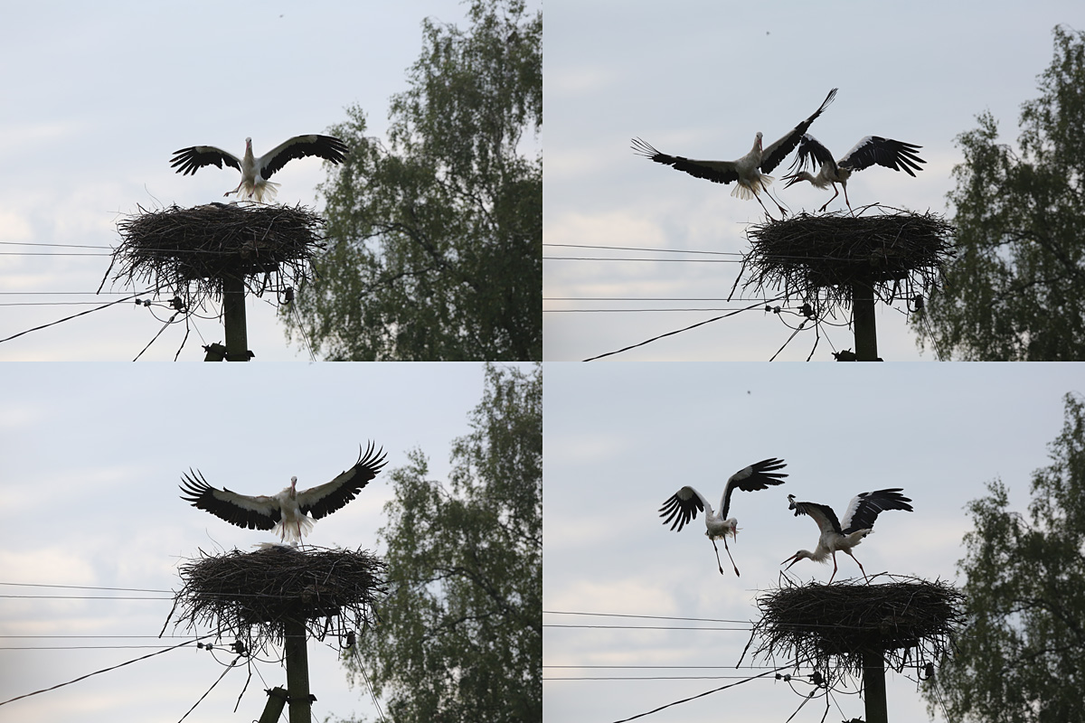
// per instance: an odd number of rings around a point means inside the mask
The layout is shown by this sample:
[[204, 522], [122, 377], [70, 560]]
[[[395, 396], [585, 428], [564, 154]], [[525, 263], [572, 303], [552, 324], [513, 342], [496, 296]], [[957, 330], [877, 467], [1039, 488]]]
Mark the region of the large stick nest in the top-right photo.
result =
[[872, 283], [886, 302], [929, 296], [955, 254], [956, 230], [930, 211], [878, 208], [871, 216], [800, 214], [751, 225], [744, 286], [782, 292], [818, 315], [850, 306], [854, 283]]

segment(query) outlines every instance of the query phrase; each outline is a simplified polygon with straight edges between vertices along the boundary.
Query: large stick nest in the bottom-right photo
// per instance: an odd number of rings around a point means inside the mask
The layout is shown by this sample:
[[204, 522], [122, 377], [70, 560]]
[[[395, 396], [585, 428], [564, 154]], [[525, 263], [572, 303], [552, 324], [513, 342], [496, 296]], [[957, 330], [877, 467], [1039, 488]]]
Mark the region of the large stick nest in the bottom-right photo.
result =
[[897, 671], [937, 661], [963, 624], [963, 594], [941, 580], [890, 580], [790, 583], [765, 593], [757, 598], [762, 618], [754, 635], [762, 643], [754, 655], [854, 674], [863, 670], [866, 649], [884, 650], [886, 666]]

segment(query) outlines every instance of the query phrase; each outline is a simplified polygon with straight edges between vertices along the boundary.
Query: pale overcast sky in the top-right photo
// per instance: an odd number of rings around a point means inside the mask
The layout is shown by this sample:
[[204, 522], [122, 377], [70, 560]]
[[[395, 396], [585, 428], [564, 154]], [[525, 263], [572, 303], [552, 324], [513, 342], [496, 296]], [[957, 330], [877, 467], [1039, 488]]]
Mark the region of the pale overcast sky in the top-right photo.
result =
[[[1059, 23], [1085, 27], [1081, 3], [548, 2], [545, 359], [583, 360], [754, 302], [725, 302], [739, 273], [737, 257], [707, 262], [711, 257], [673, 251], [746, 250], [744, 230], [764, 220], [761, 206], [732, 198], [733, 184], [649, 163], [629, 149], [631, 138], [671, 155], [733, 159], [750, 150], [757, 131], [766, 144], [775, 141], [839, 87], [809, 131], [837, 157], [875, 134], [921, 145], [927, 160], [917, 178], [880, 167], [857, 175], [848, 184], [852, 205], [945, 214], [950, 170], [962, 160], [954, 138], [990, 111], [1001, 140], [1016, 144], [1021, 103], [1038, 94], [1036, 76], [1051, 61], [1051, 29]], [[814, 211], [832, 196], [807, 183], [781, 186], [770, 190], [795, 212]], [[846, 209], [843, 195], [830, 206], [840, 209]], [[587, 300], [604, 297], [644, 300]], [[646, 308], [709, 311], [630, 311]], [[886, 360], [920, 358], [902, 311], [899, 304], [879, 307], [879, 351]], [[621, 358], [765, 361], [791, 333], [781, 318], [748, 311]], [[854, 349], [850, 330], [822, 333], [828, 338], [814, 359]], [[800, 334], [780, 359], [806, 359], [813, 346], [813, 332]], [[921, 358], [935, 357], [928, 348]]]

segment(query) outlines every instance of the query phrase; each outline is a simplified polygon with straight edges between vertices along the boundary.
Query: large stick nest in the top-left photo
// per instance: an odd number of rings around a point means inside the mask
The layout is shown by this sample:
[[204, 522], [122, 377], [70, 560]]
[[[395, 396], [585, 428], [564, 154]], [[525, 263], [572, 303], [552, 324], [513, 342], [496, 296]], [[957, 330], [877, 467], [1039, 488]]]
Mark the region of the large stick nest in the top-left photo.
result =
[[[120, 245], [105, 275], [171, 288], [188, 308], [220, 299], [225, 276], [263, 295], [296, 287], [322, 249], [324, 220], [304, 206], [207, 204], [140, 208], [117, 223]], [[103, 280], [104, 283], [104, 280]]]

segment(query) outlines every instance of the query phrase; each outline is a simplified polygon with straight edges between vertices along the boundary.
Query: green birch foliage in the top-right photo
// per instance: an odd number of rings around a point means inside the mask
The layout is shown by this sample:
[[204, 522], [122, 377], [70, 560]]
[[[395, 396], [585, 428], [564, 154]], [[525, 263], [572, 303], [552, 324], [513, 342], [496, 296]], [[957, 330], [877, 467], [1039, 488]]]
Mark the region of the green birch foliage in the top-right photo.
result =
[[943, 357], [1085, 359], [1085, 34], [1054, 36], [1041, 96], [1022, 108], [1021, 155], [996, 142], [990, 113], [957, 137], [958, 257], [926, 311]]

